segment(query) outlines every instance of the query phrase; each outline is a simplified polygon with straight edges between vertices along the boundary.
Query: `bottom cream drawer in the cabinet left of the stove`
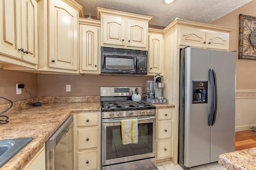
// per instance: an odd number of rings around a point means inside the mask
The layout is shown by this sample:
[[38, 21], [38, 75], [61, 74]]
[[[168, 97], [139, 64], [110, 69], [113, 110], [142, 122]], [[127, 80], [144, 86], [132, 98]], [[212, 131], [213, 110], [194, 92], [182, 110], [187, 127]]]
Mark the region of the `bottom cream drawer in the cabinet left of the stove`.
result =
[[98, 150], [89, 150], [77, 153], [78, 170], [98, 169]]

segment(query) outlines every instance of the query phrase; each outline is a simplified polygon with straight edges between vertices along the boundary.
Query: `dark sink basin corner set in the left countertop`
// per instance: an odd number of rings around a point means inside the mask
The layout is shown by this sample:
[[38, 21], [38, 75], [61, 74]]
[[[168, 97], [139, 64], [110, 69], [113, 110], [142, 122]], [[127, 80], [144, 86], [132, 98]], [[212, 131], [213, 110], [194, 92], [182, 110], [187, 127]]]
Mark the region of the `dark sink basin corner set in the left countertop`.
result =
[[0, 168], [32, 140], [32, 137], [0, 140]]

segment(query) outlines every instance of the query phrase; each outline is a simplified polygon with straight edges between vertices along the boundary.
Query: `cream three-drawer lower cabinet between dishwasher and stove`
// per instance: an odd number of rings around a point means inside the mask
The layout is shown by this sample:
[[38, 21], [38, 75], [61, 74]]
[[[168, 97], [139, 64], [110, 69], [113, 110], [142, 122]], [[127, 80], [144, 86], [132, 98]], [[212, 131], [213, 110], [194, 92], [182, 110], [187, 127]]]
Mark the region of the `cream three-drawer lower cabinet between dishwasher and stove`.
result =
[[100, 170], [100, 112], [74, 114], [74, 170]]

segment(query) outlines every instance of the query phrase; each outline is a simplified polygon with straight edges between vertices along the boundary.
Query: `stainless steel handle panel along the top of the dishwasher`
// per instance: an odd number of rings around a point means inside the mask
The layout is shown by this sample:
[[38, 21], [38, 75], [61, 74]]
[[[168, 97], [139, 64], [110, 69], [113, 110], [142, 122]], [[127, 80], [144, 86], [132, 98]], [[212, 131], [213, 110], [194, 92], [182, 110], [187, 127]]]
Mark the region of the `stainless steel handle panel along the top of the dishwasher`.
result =
[[46, 150], [52, 150], [56, 148], [56, 145], [60, 142], [60, 139], [68, 133], [71, 123], [73, 123], [73, 115], [70, 115], [60, 127], [54, 132], [54, 134], [46, 141]]

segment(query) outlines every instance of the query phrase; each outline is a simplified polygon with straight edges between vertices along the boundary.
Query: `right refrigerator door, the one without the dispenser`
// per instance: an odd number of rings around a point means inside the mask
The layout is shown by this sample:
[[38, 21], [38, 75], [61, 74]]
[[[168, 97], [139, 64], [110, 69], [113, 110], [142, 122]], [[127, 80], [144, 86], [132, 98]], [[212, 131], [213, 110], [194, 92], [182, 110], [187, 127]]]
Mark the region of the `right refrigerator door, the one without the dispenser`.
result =
[[236, 53], [212, 50], [212, 69], [216, 72], [218, 108], [211, 127], [210, 162], [235, 149]]

